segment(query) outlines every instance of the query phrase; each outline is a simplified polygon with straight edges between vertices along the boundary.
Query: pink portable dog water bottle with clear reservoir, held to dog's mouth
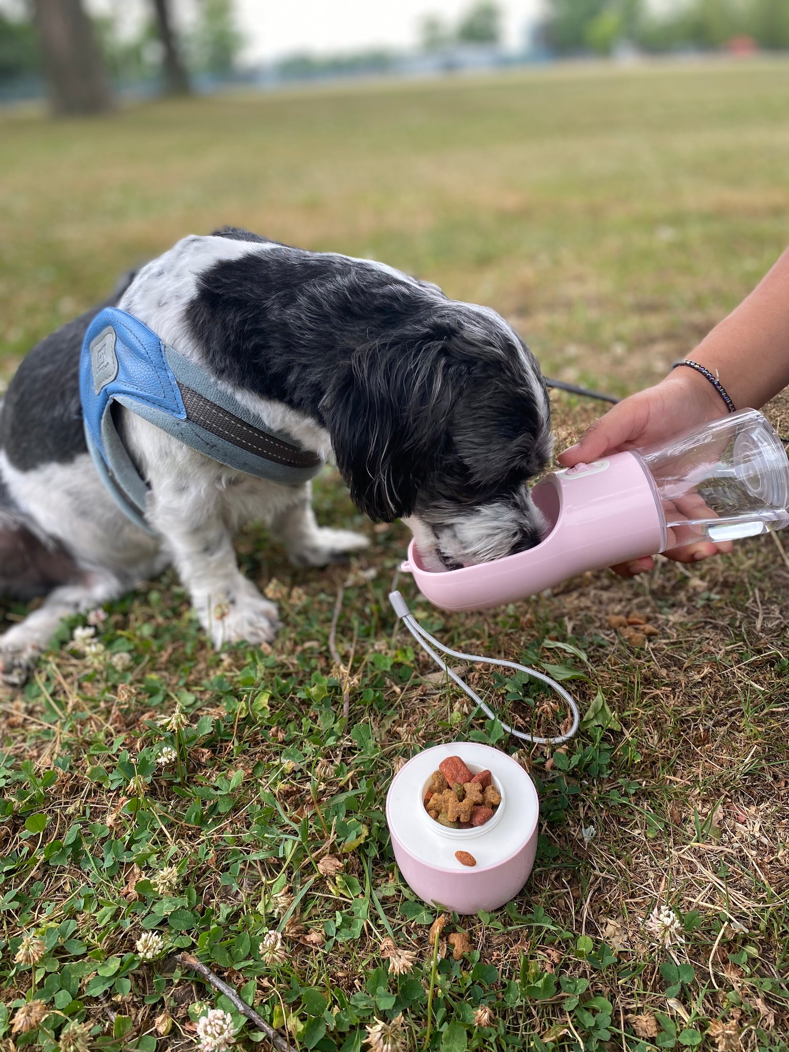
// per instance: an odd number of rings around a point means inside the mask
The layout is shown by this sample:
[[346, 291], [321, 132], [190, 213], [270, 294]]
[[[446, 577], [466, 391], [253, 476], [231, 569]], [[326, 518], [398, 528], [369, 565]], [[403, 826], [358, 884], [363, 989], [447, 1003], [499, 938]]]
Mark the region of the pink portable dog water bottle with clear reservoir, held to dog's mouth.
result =
[[511, 603], [583, 573], [694, 541], [789, 524], [789, 460], [761, 412], [743, 409], [665, 443], [549, 474], [531, 491], [548, 525], [527, 551], [459, 570], [403, 569], [446, 610]]

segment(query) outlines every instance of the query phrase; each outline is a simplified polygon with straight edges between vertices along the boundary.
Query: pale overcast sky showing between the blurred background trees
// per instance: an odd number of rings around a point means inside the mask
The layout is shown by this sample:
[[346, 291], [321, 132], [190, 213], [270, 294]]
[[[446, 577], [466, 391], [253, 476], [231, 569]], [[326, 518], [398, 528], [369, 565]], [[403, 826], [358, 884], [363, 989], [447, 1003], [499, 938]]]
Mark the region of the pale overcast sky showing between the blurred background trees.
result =
[[[0, 0], [0, 7], [15, 0]], [[179, 20], [188, 23], [200, 0], [174, 0]], [[244, 37], [244, 61], [280, 58], [296, 52], [317, 55], [367, 47], [412, 47], [428, 15], [451, 22], [472, 0], [235, 0]], [[150, 9], [150, 0], [86, 0], [89, 11], [113, 11], [133, 31]], [[525, 27], [541, 11], [542, 0], [499, 0], [504, 39], [523, 40]]]

